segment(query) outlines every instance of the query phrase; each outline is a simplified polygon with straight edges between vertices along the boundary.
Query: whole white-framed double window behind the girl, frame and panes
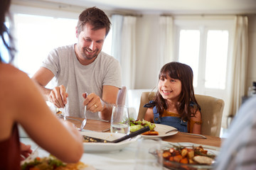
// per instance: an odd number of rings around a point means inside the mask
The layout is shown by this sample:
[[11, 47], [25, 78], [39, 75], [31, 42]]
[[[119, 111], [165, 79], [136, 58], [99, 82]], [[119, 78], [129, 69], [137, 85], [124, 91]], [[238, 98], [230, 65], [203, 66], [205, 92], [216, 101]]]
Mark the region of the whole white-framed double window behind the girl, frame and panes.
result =
[[[233, 18], [174, 21], [178, 62], [193, 69], [195, 94], [222, 98], [228, 112], [228, 71]], [[224, 115], [224, 114], [223, 114]]]

